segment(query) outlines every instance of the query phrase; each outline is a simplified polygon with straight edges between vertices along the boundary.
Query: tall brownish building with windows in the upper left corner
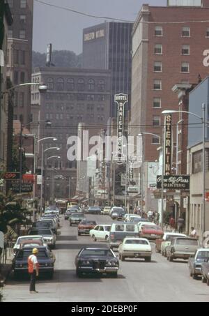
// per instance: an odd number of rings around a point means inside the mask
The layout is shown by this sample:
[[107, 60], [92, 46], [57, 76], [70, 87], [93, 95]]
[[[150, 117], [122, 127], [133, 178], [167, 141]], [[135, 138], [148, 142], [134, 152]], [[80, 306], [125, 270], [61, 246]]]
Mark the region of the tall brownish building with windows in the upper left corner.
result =
[[[13, 84], [31, 82], [33, 42], [33, 0], [8, 0], [13, 25], [8, 29], [8, 77]], [[14, 119], [29, 124], [31, 86], [15, 89]]]

